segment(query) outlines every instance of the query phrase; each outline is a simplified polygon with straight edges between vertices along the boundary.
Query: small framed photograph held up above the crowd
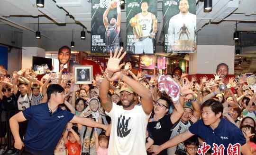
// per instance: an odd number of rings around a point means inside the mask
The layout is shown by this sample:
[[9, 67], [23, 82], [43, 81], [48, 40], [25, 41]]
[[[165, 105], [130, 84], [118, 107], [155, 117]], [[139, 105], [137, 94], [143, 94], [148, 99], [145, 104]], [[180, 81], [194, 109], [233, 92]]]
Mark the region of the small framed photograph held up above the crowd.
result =
[[92, 65], [74, 66], [75, 84], [91, 84], [92, 83]]

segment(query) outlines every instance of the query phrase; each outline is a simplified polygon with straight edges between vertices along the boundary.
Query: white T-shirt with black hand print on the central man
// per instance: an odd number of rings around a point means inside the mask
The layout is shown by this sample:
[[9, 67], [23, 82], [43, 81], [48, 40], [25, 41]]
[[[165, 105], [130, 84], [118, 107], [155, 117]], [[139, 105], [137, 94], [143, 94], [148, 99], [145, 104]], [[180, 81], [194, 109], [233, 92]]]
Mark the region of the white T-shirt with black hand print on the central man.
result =
[[113, 103], [110, 113], [112, 126], [108, 155], [146, 155], [146, 126], [150, 115], [142, 106], [124, 110]]

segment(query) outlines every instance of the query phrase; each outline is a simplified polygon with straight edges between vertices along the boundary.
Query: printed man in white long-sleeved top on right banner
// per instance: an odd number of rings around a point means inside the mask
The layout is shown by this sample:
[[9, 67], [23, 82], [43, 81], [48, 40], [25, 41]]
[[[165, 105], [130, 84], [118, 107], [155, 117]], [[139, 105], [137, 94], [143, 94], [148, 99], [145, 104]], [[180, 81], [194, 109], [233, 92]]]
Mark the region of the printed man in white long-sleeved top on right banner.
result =
[[169, 45], [173, 50], [195, 50], [196, 15], [189, 12], [189, 1], [180, 0], [179, 14], [169, 20]]

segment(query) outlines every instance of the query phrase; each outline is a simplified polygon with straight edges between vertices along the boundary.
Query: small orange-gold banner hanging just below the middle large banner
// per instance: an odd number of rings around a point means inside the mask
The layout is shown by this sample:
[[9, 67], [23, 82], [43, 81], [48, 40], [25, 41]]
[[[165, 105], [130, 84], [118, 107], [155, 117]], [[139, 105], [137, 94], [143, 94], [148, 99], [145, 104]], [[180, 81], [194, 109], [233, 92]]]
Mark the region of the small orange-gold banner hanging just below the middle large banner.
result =
[[144, 55], [140, 57], [140, 68], [155, 69], [155, 55]]

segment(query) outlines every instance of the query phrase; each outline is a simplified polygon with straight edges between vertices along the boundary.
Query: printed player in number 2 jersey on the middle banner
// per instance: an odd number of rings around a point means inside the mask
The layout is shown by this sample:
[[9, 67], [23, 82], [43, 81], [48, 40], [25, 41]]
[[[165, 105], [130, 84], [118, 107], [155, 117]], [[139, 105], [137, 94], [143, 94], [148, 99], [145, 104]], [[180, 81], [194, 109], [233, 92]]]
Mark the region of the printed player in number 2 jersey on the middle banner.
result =
[[148, 12], [148, 2], [141, 2], [141, 12], [129, 21], [133, 27], [133, 34], [139, 39], [135, 43], [135, 54], [154, 53], [154, 39], [157, 32], [157, 19], [154, 14]]

